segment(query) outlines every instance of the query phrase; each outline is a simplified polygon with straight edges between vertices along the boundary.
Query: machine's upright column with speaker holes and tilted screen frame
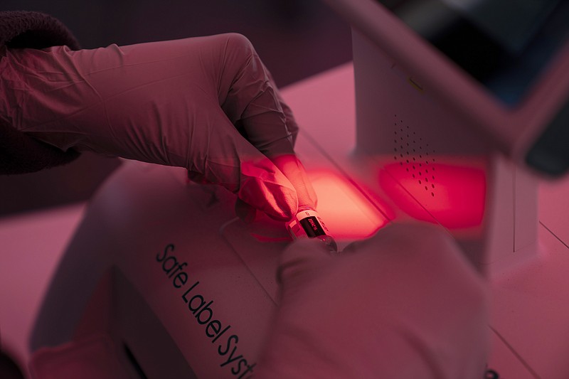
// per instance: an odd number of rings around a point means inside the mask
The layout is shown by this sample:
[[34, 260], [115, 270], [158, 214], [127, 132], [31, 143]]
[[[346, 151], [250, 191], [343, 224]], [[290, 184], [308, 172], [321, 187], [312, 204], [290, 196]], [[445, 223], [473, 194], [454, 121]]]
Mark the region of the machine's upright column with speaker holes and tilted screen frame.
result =
[[[556, 169], [529, 166], [530, 151], [551, 129], [552, 120], [569, 128], [569, 38], [560, 38], [558, 51], [544, 58], [541, 73], [517, 102], [509, 104], [415, 33], [382, 1], [326, 2], [353, 26], [355, 152], [373, 160], [400, 186], [383, 184], [381, 190], [400, 207], [422, 208], [411, 210], [415, 218], [435, 218], [450, 230], [481, 272], [499, 274], [535, 254], [538, 177]], [[442, 6], [475, 8], [490, 3], [383, 2], [411, 4], [398, 10], [410, 23], [418, 23], [418, 29], [427, 27], [409, 16], [413, 11], [423, 12], [419, 16], [424, 19]], [[422, 3], [423, 8], [413, 9]], [[567, 6], [562, 10], [566, 13]], [[565, 134], [563, 142], [569, 143]], [[561, 149], [563, 161], [568, 154]], [[400, 188], [418, 204], [398, 201]]]

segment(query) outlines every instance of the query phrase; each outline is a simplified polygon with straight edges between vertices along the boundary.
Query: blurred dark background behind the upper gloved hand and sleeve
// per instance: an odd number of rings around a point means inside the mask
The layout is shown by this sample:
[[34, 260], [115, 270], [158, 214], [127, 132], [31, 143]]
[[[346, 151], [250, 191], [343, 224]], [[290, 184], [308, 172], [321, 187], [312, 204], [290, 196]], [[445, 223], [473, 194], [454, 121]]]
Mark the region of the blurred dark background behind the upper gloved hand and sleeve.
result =
[[[83, 48], [238, 32], [283, 87], [351, 60], [348, 24], [319, 0], [0, 0], [0, 9], [42, 11]], [[83, 154], [67, 166], [0, 176], [0, 217], [85, 201], [119, 165]]]

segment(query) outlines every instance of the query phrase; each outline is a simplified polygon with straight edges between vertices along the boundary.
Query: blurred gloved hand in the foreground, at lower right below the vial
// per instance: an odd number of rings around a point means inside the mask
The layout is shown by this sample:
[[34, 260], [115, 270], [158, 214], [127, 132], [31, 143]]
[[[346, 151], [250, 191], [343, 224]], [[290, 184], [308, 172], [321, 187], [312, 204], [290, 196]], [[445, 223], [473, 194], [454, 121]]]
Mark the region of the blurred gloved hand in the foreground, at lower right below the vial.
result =
[[395, 225], [349, 250], [285, 250], [255, 378], [483, 378], [486, 292], [449, 236]]

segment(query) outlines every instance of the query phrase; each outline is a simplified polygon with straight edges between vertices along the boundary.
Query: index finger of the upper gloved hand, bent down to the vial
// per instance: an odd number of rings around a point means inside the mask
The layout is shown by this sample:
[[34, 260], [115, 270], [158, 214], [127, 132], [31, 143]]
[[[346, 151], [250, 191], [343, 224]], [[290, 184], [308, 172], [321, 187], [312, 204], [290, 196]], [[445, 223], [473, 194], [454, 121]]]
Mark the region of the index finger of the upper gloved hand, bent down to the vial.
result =
[[[243, 126], [249, 142], [268, 156], [297, 190], [299, 205], [316, 206], [317, 196], [306, 171], [294, 156], [298, 133], [292, 111], [277, 90], [251, 43], [228, 35], [220, 77], [221, 107], [233, 124]], [[223, 96], [223, 93], [227, 95]]]

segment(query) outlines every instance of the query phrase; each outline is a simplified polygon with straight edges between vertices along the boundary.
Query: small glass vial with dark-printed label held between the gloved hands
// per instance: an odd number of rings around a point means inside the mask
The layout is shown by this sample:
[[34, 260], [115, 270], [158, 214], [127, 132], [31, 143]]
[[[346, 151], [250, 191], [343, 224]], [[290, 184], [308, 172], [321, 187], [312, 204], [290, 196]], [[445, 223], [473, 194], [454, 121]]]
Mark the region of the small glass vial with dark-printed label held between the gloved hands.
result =
[[338, 251], [336, 241], [330, 235], [326, 224], [319, 213], [309, 207], [300, 207], [297, 214], [288, 223], [287, 230], [293, 240], [299, 237], [317, 238], [324, 242], [326, 247], [334, 252]]

